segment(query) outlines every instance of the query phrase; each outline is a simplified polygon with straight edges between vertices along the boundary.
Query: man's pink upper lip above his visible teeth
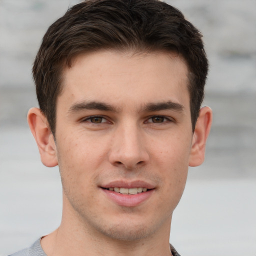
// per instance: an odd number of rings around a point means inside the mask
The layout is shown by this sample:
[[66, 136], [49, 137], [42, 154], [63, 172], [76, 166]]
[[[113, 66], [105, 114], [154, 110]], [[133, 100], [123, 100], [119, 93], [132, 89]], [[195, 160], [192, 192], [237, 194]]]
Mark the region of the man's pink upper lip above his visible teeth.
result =
[[108, 182], [106, 184], [100, 185], [104, 188], [109, 187], [123, 187], [123, 188], [132, 188], [132, 187], [145, 187], [147, 189], [152, 189], [155, 186], [153, 184], [150, 184], [149, 182], [142, 181], [142, 180], [133, 180], [133, 181], [127, 181], [127, 180], [115, 180]]

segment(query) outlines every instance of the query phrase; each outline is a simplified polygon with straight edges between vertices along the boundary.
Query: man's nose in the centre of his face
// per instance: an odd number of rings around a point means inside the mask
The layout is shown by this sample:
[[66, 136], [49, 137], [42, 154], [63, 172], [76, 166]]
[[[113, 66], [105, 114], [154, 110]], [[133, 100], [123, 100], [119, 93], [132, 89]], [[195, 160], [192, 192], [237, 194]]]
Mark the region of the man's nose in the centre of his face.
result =
[[136, 124], [116, 128], [109, 151], [109, 161], [114, 166], [133, 169], [149, 161], [143, 131]]

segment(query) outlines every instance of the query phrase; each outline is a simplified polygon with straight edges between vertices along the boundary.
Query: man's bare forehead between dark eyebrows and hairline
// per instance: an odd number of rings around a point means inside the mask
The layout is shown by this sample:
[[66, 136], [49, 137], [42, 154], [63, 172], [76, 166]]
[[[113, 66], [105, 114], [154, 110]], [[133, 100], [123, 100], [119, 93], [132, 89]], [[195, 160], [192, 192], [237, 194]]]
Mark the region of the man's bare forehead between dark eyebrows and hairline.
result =
[[[172, 100], [188, 104], [188, 70], [176, 53], [97, 51], [76, 56], [63, 70], [59, 98], [100, 100], [121, 107]], [[125, 104], [126, 104], [125, 103]]]

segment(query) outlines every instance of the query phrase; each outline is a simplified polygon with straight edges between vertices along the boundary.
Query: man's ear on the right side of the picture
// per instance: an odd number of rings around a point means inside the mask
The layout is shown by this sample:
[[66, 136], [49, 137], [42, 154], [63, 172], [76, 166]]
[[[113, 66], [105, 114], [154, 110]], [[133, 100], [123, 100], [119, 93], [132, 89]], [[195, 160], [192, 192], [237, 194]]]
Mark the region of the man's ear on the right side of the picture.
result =
[[198, 166], [204, 161], [205, 143], [210, 132], [211, 121], [212, 110], [208, 106], [202, 107], [193, 133], [189, 166]]

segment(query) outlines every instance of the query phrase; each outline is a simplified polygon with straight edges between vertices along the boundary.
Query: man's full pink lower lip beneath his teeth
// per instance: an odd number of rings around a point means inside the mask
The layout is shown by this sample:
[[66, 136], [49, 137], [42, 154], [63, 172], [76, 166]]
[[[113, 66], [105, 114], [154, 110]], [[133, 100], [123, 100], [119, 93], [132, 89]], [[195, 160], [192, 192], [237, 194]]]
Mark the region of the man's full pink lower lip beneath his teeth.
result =
[[150, 190], [147, 190], [146, 192], [141, 192], [136, 194], [121, 194], [121, 193], [116, 193], [115, 191], [110, 191], [108, 189], [103, 189], [103, 188], [101, 189], [109, 199], [117, 203], [119, 206], [126, 206], [126, 207], [139, 205], [140, 203], [148, 199], [154, 191], [154, 189], [150, 189]]

